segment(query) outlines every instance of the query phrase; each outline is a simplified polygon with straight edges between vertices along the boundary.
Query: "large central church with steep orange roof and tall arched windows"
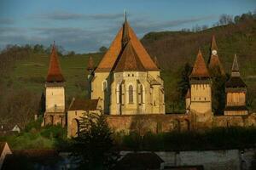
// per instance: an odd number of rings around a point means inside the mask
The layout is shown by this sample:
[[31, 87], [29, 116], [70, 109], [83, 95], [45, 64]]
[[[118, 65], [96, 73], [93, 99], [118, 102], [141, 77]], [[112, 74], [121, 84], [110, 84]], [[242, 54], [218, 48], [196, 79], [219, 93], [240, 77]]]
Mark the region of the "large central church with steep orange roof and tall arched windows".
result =
[[91, 79], [91, 99], [100, 98], [110, 115], [165, 113], [160, 69], [151, 59], [125, 13], [125, 21]]

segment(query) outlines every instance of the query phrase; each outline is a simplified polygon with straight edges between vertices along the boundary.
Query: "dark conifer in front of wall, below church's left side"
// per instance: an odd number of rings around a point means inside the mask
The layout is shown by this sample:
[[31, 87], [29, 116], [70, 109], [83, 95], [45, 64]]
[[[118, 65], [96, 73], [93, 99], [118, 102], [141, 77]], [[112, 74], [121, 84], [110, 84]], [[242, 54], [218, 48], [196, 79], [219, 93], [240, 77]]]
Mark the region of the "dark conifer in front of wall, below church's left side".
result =
[[89, 113], [81, 117], [78, 137], [73, 139], [74, 161], [80, 169], [111, 169], [118, 159], [104, 115]]

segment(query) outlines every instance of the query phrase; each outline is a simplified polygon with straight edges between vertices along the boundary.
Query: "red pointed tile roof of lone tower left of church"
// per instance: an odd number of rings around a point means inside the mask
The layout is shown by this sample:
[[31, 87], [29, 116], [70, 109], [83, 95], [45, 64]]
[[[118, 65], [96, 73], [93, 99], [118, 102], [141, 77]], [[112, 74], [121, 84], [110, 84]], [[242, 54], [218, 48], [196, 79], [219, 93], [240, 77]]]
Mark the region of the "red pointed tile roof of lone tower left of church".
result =
[[61, 73], [61, 66], [59, 64], [57, 49], [55, 44], [52, 47], [50, 60], [49, 60], [49, 70], [46, 77], [46, 82], [65, 82], [64, 77]]

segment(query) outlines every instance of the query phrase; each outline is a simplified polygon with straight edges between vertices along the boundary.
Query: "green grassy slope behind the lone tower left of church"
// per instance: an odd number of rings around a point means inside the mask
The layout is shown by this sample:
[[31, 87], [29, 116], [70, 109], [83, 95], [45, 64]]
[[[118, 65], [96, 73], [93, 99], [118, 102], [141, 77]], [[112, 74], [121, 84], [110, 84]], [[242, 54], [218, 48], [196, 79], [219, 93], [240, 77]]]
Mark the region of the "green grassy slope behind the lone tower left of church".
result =
[[[81, 54], [73, 57], [61, 57], [61, 70], [66, 79], [67, 98], [85, 95], [87, 71], [86, 65], [92, 56], [97, 63], [102, 54]], [[11, 82], [15, 88], [28, 88], [35, 93], [42, 93], [44, 80], [49, 67], [49, 55], [32, 54], [29, 59], [15, 62], [15, 69], [11, 75]], [[9, 79], [9, 78], [8, 78]], [[9, 81], [9, 80], [8, 80]], [[8, 82], [7, 81], [7, 82]]]

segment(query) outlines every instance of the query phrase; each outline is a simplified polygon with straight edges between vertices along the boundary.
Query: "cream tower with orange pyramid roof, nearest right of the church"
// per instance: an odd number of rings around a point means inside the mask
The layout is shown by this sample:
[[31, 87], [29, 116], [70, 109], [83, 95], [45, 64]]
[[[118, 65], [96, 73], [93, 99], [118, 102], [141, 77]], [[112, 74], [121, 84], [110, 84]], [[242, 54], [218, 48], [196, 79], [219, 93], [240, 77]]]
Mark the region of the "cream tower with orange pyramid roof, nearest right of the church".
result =
[[212, 116], [211, 79], [201, 50], [197, 54], [189, 79], [190, 111], [201, 118]]

